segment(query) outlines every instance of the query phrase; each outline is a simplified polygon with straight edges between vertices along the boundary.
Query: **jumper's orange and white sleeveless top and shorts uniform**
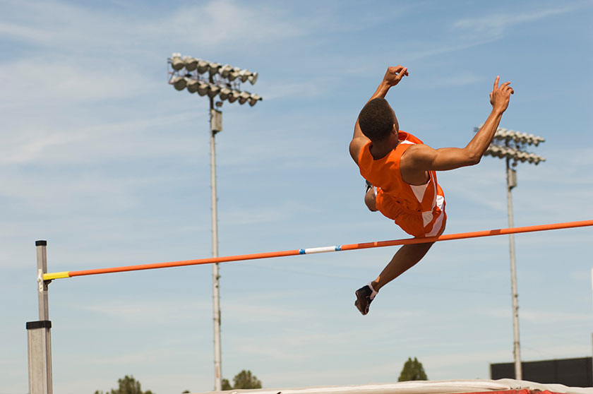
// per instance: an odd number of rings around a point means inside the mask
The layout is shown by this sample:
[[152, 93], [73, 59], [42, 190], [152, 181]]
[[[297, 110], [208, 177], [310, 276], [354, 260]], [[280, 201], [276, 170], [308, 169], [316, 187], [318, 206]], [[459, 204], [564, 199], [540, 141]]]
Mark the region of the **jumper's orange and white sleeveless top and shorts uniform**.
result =
[[445, 195], [434, 171], [429, 171], [429, 181], [423, 185], [411, 185], [402, 179], [402, 155], [422, 141], [404, 131], [399, 132], [398, 138], [395, 149], [378, 160], [371, 155], [371, 142], [364, 145], [359, 156], [360, 173], [376, 186], [376, 205], [383, 215], [414, 237], [431, 237], [444, 226]]

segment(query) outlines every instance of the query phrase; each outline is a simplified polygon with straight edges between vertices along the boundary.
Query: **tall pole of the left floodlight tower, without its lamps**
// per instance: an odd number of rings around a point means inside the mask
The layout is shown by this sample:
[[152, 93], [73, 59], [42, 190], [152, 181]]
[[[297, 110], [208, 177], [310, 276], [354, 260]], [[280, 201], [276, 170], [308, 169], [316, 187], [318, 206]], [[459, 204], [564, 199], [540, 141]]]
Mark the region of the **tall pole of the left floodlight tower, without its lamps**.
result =
[[[210, 77], [212, 78], [212, 77]], [[210, 97], [210, 182], [212, 184], [212, 257], [218, 257], [218, 217], [216, 208], [216, 149], [215, 127], [220, 112], [214, 109], [214, 98]], [[222, 349], [220, 345], [220, 275], [218, 263], [212, 264], [212, 311], [214, 315], [214, 390], [222, 390]]]

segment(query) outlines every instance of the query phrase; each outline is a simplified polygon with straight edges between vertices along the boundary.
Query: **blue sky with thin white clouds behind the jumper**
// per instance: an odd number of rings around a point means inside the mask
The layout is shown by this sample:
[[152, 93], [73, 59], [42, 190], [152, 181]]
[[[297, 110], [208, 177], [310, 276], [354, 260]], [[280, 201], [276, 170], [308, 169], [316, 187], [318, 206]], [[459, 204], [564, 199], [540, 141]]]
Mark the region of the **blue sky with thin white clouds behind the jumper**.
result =
[[[28, 391], [35, 240], [50, 272], [211, 255], [208, 100], [167, 85], [181, 52], [260, 73], [217, 135], [220, 255], [407, 237], [363, 205], [347, 152], [385, 68], [402, 130], [463, 146], [497, 75], [501, 126], [546, 138], [519, 164], [515, 225], [593, 217], [592, 1], [0, 0], [0, 394]], [[503, 160], [441, 172], [448, 233], [507, 227]], [[590, 228], [515, 237], [522, 356], [592, 350]], [[222, 372], [265, 387], [489, 378], [511, 362], [508, 239], [436, 244], [381, 291], [395, 249], [220, 266]], [[49, 287], [54, 391], [133, 374], [158, 394], [213, 388], [210, 266]]]

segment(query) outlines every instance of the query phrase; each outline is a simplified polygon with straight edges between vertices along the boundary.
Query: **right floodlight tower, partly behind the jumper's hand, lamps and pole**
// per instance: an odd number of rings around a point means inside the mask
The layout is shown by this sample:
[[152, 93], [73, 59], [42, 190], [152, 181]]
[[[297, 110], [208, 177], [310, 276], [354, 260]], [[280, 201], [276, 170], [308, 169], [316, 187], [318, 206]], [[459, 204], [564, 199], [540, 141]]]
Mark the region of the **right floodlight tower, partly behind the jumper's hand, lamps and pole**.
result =
[[[474, 127], [474, 131], [478, 131]], [[508, 227], [513, 227], [513, 200], [510, 191], [517, 186], [517, 171], [513, 167], [517, 162], [529, 162], [538, 165], [546, 159], [525, 150], [527, 145], [539, 145], [546, 141], [544, 138], [533, 134], [520, 133], [519, 131], [498, 128], [486, 153], [493, 157], [506, 159], [507, 174], [507, 207]], [[511, 162], [512, 161], [512, 162]], [[519, 297], [517, 294], [517, 271], [515, 270], [515, 237], [509, 235], [510, 251], [510, 287], [513, 292], [513, 355], [515, 357], [515, 379], [522, 379], [521, 348], [519, 345]]]

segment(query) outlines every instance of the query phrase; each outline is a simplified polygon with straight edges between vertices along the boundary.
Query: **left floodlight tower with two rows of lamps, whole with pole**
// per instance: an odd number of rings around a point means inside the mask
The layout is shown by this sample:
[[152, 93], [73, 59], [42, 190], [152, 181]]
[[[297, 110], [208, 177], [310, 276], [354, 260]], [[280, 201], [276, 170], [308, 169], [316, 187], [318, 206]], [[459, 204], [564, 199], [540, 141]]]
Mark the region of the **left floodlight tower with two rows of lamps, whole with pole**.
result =
[[[258, 73], [246, 69], [219, 64], [212, 61], [181, 56], [174, 53], [167, 59], [169, 65], [169, 84], [176, 90], [190, 93], [198, 92], [200, 96], [210, 99], [210, 181], [212, 191], [212, 257], [218, 257], [218, 218], [216, 209], [216, 156], [215, 135], [222, 131], [222, 102], [246, 102], [253, 107], [262, 97], [241, 90], [241, 83], [256, 83]], [[215, 97], [220, 101], [215, 103]], [[214, 389], [222, 390], [222, 348], [220, 345], [220, 275], [218, 264], [212, 264], [212, 310], [214, 315]]]

